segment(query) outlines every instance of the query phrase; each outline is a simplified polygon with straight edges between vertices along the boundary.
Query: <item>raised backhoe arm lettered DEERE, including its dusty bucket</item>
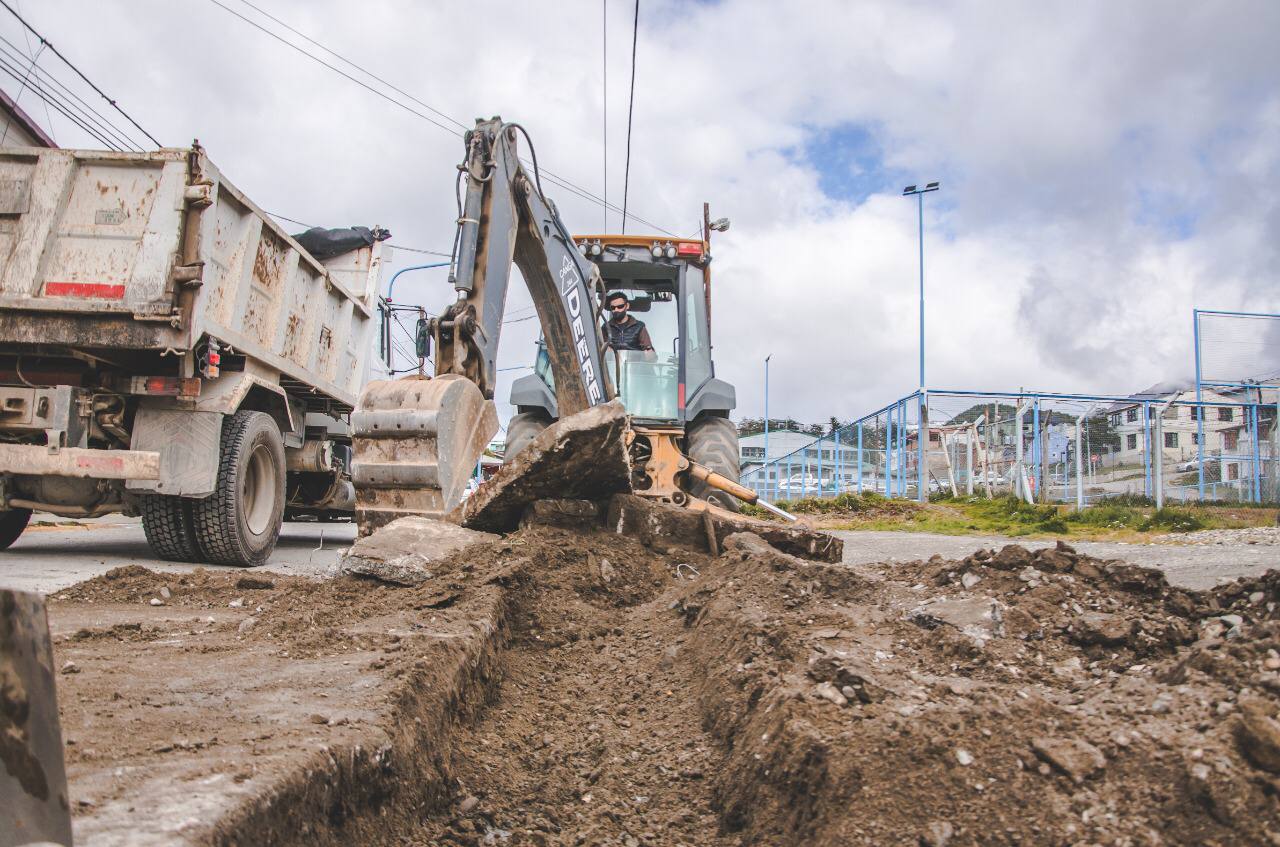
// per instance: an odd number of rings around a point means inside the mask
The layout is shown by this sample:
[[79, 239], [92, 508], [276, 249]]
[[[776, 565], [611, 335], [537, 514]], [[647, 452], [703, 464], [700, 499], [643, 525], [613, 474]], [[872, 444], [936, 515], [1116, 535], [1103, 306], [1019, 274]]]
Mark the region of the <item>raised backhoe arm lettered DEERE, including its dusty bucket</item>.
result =
[[[428, 324], [435, 379], [370, 383], [352, 415], [352, 480], [361, 535], [404, 516], [442, 517], [463, 496], [498, 431], [493, 404], [511, 267], [520, 269], [541, 321], [562, 416], [609, 402], [595, 265], [579, 253], [556, 206], [525, 170], [518, 124], [477, 120], [458, 166], [456, 299]], [[527, 141], [527, 134], [525, 136]]]

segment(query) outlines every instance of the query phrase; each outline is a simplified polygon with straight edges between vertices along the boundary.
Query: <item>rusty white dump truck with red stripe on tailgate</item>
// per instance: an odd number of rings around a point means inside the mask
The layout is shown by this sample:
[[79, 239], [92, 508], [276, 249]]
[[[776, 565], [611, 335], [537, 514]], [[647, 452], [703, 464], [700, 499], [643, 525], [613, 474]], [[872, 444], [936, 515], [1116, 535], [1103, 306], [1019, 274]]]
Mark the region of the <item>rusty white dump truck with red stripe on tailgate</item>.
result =
[[118, 512], [256, 566], [287, 516], [351, 514], [383, 233], [306, 235], [198, 145], [0, 151], [0, 549]]

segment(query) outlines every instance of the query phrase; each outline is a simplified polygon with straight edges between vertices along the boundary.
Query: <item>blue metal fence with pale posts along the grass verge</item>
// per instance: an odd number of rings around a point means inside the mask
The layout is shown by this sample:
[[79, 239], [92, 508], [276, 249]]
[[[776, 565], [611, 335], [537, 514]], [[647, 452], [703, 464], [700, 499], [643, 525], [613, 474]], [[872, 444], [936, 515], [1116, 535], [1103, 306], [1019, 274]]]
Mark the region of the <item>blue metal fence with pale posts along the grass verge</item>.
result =
[[[1056, 392], [913, 392], [746, 466], [767, 500], [874, 491], [934, 493], [1083, 507], [1137, 494], [1169, 502], [1274, 502], [1280, 386], [1220, 386], [1201, 400]], [[923, 422], [923, 425], [922, 425]], [[922, 435], [923, 434], [923, 435]]]

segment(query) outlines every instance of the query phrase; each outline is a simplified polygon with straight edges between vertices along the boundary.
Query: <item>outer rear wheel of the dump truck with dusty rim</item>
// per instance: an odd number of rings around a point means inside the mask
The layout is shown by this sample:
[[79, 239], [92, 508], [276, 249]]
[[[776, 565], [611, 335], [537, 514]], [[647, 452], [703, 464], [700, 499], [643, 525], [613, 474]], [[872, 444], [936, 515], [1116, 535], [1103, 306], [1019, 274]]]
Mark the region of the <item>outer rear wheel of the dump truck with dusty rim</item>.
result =
[[284, 439], [265, 412], [223, 421], [218, 487], [192, 503], [196, 541], [215, 564], [265, 564], [284, 519]]

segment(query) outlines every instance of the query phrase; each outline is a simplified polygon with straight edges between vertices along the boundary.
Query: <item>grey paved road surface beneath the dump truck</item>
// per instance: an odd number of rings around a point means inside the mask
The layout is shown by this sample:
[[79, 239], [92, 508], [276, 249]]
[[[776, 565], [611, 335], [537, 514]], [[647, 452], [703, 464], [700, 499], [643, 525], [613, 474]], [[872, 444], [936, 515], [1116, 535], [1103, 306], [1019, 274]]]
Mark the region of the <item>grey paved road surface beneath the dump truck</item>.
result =
[[[37, 521], [59, 523], [35, 526]], [[12, 548], [0, 551], [0, 587], [47, 594], [124, 564], [172, 572], [200, 567], [155, 558], [137, 518], [108, 517], [69, 523], [37, 514], [32, 525]], [[252, 569], [320, 573], [337, 560], [339, 550], [351, 546], [355, 537], [353, 523], [285, 523], [270, 562]]]

